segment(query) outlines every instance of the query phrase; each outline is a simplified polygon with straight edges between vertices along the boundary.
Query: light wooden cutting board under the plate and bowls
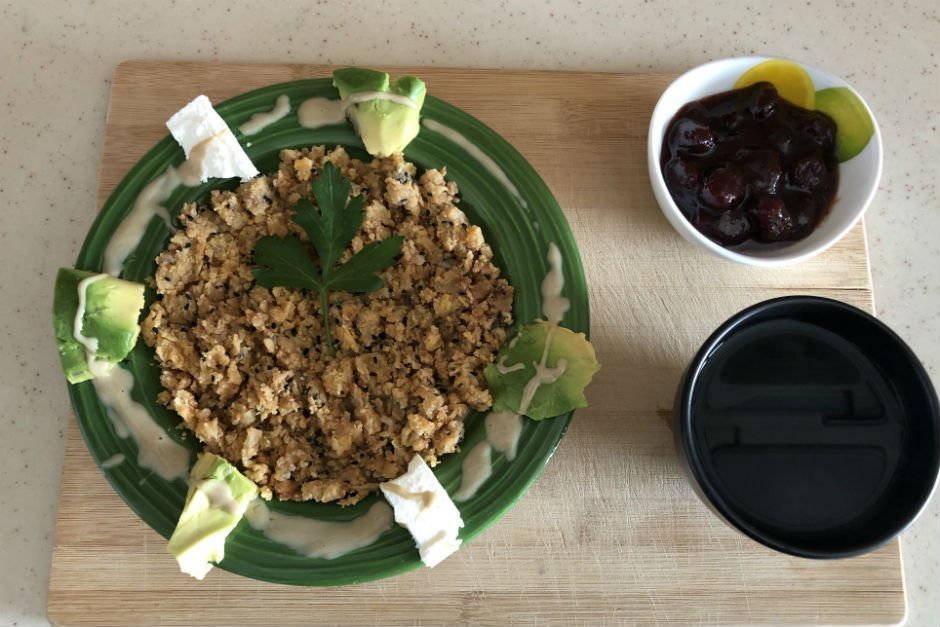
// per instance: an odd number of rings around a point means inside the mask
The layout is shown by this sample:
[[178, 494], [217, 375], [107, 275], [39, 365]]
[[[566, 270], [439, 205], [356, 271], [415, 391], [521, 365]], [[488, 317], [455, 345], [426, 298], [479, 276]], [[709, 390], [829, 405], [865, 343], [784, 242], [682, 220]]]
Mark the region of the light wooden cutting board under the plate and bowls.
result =
[[[905, 615], [897, 542], [849, 560], [779, 555], [726, 527], [680, 475], [665, 420], [687, 362], [755, 302], [815, 294], [872, 308], [860, 225], [797, 267], [699, 252], [661, 215], [649, 116], [669, 76], [420, 69], [545, 179], [574, 230], [603, 365], [532, 490], [433, 570], [331, 589], [216, 569], [181, 575], [111, 490], [71, 421], [48, 613], [60, 625], [890, 624]], [[199, 93], [221, 101], [329, 68], [131, 62], [114, 76], [99, 207]], [[273, 106], [273, 102], [272, 102]], [[90, 208], [89, 208], [90, 210]], [[63, 408], [64, 410], [64, 408]]]

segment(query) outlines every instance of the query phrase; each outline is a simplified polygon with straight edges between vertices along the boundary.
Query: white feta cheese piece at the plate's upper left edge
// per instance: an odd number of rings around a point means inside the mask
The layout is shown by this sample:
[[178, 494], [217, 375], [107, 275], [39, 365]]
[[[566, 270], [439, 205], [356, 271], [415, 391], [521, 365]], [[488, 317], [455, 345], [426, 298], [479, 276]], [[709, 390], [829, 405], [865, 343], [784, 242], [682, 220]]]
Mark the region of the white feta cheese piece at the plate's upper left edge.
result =
[[199, 181], [233, 176], [247, 181], [258, 176], [258, 168], [206, 96], [198, 96], [174, 113], [166, 127], [183, 147], [188, 170]]

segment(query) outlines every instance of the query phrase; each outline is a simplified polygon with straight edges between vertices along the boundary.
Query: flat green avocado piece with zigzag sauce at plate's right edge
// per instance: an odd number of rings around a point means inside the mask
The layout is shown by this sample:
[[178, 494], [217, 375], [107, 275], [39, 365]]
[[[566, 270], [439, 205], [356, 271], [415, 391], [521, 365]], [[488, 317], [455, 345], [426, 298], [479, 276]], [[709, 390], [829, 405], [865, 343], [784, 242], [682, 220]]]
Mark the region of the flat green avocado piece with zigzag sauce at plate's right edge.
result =
[[[536, 375], [547, 341], [551, 344], [544, 366], [560, 368], [560, 376], [539, 385], [528, 407], [522, 407], [526, 387]], [[500, 351], [497, 362], [483, 372], [493, 394], [493, 411], [509, 410], [542, 420], [587, 407], [584, 388], [600, 369], [594, 347], [583, 333], [540, 320], [519, 329], [519, 335]]]

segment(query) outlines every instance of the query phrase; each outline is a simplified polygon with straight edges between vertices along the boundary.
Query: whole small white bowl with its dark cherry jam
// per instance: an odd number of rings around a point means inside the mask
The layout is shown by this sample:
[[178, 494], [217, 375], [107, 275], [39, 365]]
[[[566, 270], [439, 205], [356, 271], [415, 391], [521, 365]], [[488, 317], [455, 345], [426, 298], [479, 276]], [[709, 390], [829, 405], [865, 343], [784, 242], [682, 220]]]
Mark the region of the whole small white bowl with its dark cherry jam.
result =
[[832, 246], [878, 187], [881, 137], [844, 81], [766, 57], [716, 61], [679, 77], [650, 121], [657, 202], [689, 241], [775, 266]]

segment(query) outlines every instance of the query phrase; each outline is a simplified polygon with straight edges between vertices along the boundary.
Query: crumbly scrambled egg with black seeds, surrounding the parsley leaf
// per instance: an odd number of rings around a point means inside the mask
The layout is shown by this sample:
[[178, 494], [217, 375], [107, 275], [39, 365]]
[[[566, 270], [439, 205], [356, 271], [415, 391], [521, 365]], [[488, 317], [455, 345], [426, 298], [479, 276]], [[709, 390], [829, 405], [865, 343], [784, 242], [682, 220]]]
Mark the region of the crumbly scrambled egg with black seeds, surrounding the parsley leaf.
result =
[[[415, 178], [401, 155], [363, 163], [322, 146], [280, 156], [277, 173], [183, 208], [142, 335], [161, 367], [160, 401], [264, 498], [349, 505], [416, 453], [435, 465], [457, 449], [467, 412], [490, 407], [483, 368], [506, 340], [513, 290], [445, 171]], [[330, 294], [335, 357], [318, 294], [261, 287], [251, 274], [258, 238], [306, 241], [291, 214], [326, 161], [366, 196], [340, 263], [405, 238], [384, 288]]]

